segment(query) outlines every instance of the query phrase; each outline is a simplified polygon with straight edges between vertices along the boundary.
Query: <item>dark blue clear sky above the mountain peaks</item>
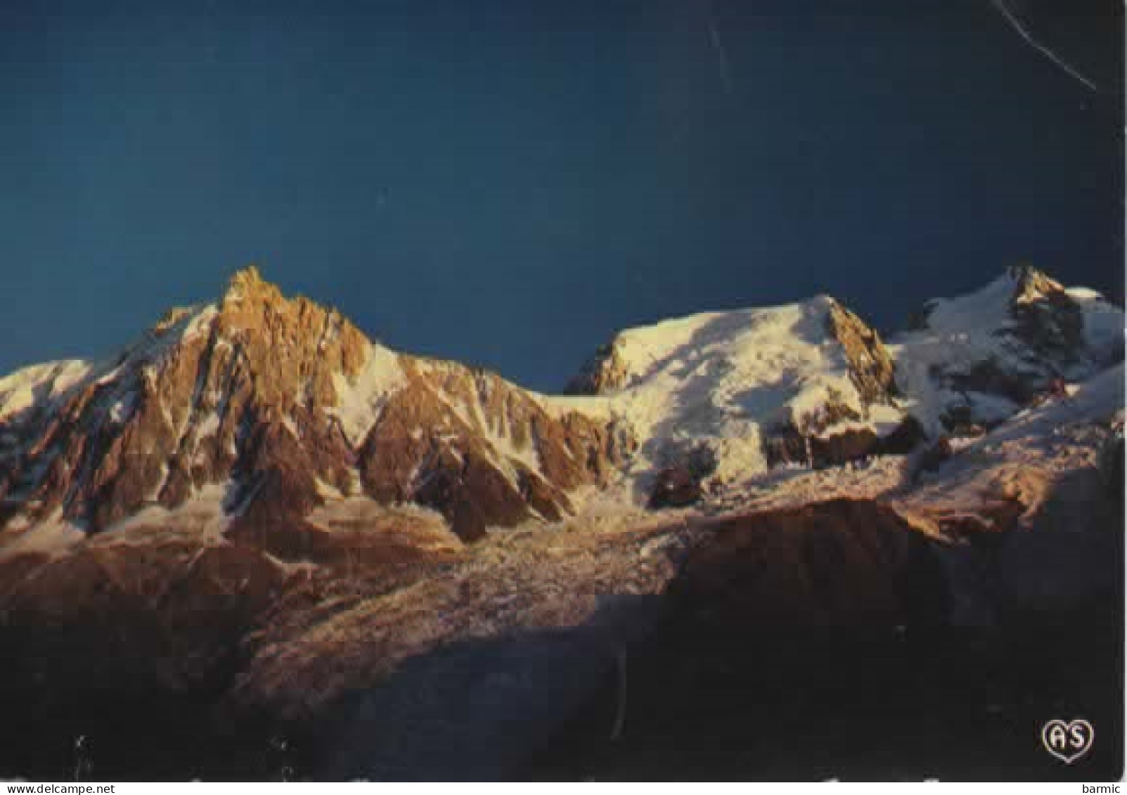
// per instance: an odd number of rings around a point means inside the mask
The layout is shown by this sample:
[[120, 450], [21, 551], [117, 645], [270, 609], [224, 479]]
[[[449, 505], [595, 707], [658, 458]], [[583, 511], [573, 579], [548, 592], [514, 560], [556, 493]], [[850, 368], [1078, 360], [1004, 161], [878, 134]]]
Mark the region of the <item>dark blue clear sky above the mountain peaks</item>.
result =
[[[0, 372], [249, 262], [558, 388], [613, 331], [1030, 260], [1122, 295], [1118, 0], [0, 3]], [[844, 8], [850, 7], [846, 16]], [[1102, 15], [1102, 16], [1101, 16]]]

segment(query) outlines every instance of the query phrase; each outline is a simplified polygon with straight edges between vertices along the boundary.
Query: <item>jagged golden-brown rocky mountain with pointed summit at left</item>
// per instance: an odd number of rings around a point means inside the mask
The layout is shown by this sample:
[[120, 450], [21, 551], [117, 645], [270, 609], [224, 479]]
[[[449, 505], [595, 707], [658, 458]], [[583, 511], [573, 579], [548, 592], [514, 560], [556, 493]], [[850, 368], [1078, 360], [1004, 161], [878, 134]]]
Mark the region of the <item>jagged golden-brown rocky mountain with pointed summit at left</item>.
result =
[[[47, 385], [50, 387], [50, 385]], [[0, 414], [6, 511], [90, 533], [225, 486], [231, 532], [292, 524], [326, 494], [417, 502], [464, 537], [571, 510], [621, 435], [502, 378], [373, 345], [251, 267], [216, 304], [176, 310], [117, 359]]]

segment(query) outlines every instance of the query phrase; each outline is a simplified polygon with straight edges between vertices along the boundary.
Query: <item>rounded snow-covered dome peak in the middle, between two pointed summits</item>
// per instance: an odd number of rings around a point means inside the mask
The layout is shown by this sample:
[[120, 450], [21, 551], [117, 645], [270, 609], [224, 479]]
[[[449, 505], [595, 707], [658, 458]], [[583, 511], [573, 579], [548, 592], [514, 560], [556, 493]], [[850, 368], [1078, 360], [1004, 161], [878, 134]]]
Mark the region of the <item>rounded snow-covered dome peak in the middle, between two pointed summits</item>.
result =
[[876, 444], [904, 419], [879, 334], [825, 295], [629, 329], [569, 390], [606, 395], [646, 439], [638, 474], [686, 457], [721, 481], [833, 461], [840, 432]]

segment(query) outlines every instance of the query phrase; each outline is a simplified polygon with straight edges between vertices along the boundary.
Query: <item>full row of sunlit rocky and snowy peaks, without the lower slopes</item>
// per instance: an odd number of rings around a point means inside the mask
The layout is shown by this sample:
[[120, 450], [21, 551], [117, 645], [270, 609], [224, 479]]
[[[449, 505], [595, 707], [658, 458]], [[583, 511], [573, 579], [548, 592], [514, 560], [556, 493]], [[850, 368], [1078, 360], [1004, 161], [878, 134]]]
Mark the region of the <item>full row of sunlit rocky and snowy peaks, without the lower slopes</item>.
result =
[[630, 329], [577, 396], [548, 398], [373, 343], [250, 266], [108, 361], [0, 379], [0, 538], [36, 548], [210, 500], [227, 537], [290, 559], [317, 546], [314, 510], [348, 501], [473, 539], [554, 521], [584, 485], [648, 493], [671, 466], [722, 485], [996, 423], [1121, 358], [1121, 328], [1097, 294], [1014, 267], [888, 342], [828, 296]]

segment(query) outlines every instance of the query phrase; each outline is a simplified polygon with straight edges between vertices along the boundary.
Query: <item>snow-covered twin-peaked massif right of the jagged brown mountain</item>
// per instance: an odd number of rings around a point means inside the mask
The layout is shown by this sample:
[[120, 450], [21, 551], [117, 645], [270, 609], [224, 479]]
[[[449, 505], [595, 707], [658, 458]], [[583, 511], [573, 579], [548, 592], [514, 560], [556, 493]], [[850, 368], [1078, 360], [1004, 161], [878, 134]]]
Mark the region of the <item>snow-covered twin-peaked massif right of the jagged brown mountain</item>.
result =
[[974, 432], [1054, 379], [1121, 358], [1118, 307], [1015, 266], [929, 302], [890, 345], [826, 295], [628, 329], [568, 391], [602, 395], [633, 423], [644, 440], [635, 473], [703, 456], [722, 481]]

